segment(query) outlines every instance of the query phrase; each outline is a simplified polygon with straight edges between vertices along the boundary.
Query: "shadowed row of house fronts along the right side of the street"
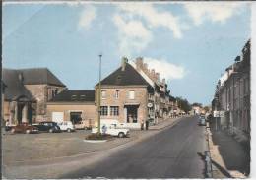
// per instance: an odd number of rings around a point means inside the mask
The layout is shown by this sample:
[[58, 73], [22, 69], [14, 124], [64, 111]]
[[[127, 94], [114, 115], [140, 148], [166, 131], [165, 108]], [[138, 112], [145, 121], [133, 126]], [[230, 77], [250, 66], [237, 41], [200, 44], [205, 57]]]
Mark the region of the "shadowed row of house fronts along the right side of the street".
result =
[[223, 111], [219, 126], [233, 134], [250, 135], [250, 40], [219, 80], [213, 110]]

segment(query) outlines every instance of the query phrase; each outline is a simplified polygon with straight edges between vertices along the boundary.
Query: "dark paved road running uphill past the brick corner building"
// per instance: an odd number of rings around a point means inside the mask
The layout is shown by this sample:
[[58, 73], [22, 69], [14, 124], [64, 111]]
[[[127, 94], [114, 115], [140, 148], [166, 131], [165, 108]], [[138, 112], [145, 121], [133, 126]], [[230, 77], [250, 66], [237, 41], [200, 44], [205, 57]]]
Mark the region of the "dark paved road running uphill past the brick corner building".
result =
[[172, 128], [63, 178], [204, 178], [205, 127], [186, 117]]

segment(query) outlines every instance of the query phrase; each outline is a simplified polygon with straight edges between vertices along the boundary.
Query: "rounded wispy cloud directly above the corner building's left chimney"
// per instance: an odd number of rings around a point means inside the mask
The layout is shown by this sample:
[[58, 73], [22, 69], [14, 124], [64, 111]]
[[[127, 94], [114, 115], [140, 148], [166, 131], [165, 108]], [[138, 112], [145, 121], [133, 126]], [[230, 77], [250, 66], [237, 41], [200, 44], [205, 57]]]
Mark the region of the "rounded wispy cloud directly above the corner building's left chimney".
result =
[[152, 40], [152, 32], [140, 21], [126, 21], [116, 14], [113, 22], [118, 28], [119, 51], [122, 55], [129, 56], [134, 52], [140, 52]]

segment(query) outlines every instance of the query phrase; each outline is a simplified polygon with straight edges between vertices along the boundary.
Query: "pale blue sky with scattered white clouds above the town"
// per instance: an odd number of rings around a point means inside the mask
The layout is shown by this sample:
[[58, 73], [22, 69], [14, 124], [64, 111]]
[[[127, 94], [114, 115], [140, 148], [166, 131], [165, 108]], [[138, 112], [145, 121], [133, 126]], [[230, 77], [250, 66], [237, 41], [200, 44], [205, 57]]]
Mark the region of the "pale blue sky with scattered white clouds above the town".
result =
[[171, 95], [211, 103], [250, 38], [250, 3], [4, 3], [3, 67], [47, 67], [69, 90], [93, 90], [121, 58], [143, 57]]

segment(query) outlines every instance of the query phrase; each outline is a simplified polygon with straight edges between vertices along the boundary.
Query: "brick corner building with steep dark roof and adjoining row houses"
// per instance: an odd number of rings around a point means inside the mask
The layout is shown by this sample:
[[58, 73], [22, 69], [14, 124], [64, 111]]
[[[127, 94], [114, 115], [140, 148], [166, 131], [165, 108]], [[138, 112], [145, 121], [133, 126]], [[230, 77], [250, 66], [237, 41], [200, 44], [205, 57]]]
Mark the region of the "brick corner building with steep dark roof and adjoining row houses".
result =
[[[122, 65], [101, 81], [100, 119], [116, 119], [138, 128], [147, 119], [159, 123], [169, 114], [169, 91], [159, 73], [150, 71], [142, 58]], [[96, 85], [96, 91], [98, 85]]]

